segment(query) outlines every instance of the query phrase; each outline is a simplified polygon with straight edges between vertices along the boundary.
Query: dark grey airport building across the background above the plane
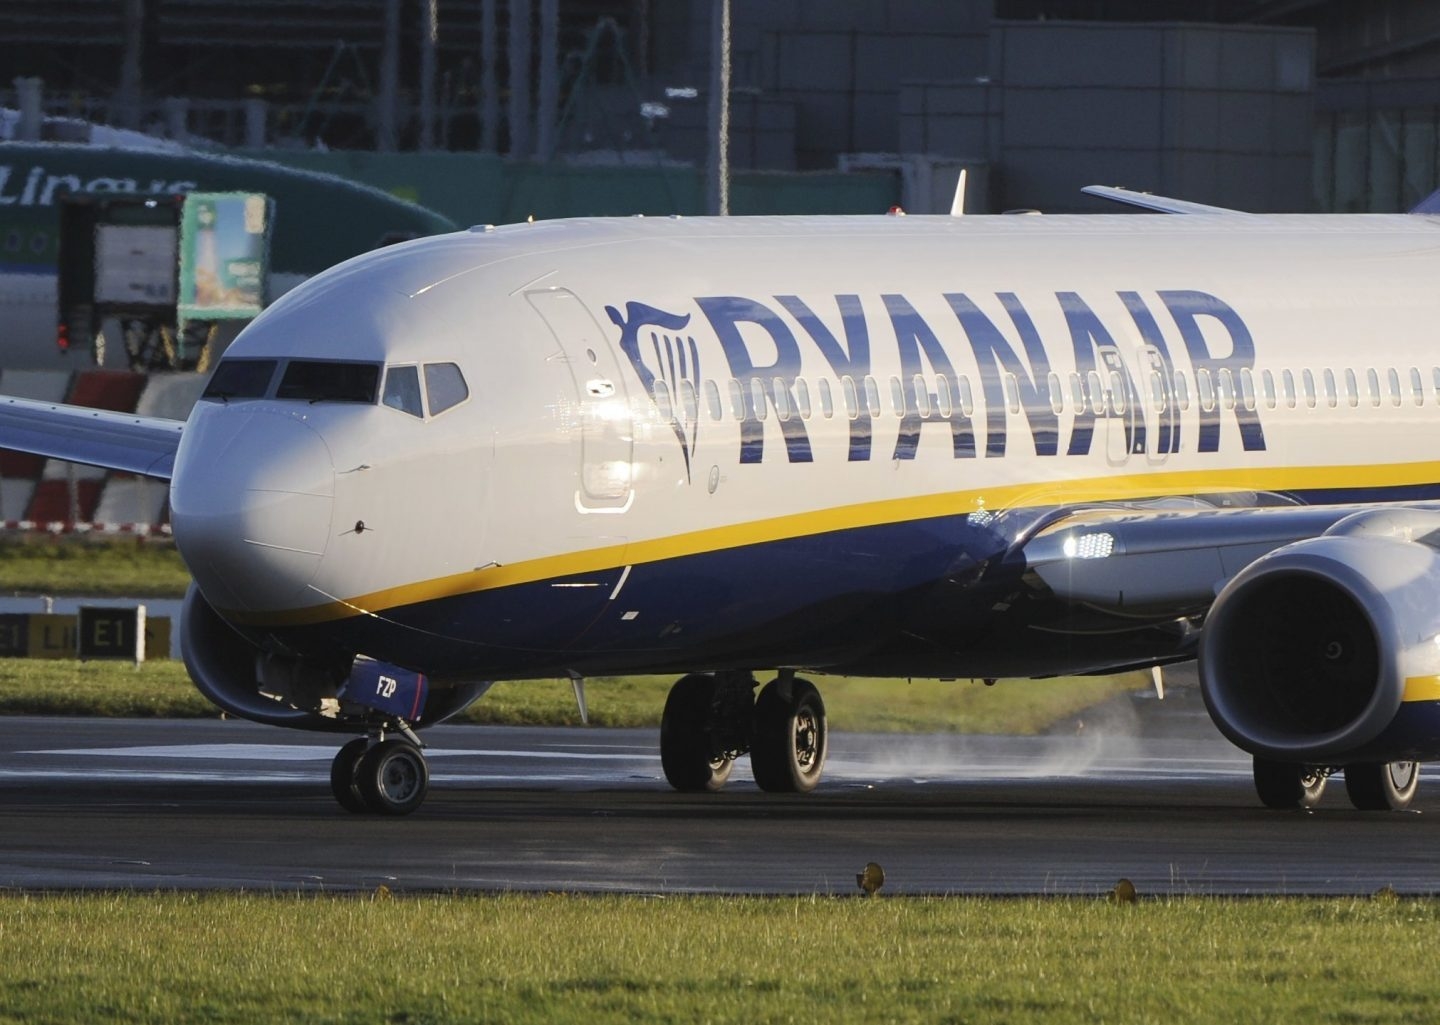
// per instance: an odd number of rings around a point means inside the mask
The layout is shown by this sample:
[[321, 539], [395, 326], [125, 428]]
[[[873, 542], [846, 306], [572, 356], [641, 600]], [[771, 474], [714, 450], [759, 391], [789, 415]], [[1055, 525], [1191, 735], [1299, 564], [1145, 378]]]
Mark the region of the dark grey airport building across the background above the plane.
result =
[[[281, 158], [703, 168], [713, 10], [0, 0], [0, 55], [43, 82], [48, 112]], [[1253, 210], [1398, 210], [1437, 179], [1433, 4], [734, 0], [730, 55], [737, 173], [888, 171], [913, 209], [959, 166], [976, 210], [1094, 209], [1077, 194], [1089, 181]]]

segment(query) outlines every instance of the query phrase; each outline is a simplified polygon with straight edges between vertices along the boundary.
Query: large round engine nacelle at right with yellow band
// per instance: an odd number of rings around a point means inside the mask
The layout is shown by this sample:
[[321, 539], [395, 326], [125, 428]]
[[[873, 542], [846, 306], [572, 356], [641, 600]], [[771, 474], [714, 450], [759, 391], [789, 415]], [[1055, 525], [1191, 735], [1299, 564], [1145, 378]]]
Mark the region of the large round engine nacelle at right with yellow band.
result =
[[1257, 559], [1205, 619], [1220, 731], [1306, 764], [1440, 757], [1440, 551], [1428, 511], [1361, 512]]

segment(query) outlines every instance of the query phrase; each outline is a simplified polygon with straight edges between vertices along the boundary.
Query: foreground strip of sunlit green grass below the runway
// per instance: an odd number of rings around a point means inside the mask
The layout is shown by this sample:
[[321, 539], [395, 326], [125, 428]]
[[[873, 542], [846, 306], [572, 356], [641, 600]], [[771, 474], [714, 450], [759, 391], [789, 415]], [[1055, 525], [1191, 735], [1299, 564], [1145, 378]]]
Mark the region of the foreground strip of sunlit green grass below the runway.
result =
[[1424, 1022], [1436, 901], [0, 895], [0, 1022]]

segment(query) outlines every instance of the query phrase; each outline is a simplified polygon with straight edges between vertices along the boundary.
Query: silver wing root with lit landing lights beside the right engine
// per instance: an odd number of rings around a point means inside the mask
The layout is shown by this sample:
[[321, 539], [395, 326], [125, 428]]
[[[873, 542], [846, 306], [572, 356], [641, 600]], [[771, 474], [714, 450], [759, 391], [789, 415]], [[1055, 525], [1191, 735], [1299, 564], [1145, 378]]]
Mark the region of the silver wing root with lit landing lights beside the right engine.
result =
[[1116, 613], [1189, 615], [1210, 608], [1225, 582], [1260, 556], [1372, 510], [1077, 510], [1050, 521], [1020, 548], [1028, 572], [1061, 600]]

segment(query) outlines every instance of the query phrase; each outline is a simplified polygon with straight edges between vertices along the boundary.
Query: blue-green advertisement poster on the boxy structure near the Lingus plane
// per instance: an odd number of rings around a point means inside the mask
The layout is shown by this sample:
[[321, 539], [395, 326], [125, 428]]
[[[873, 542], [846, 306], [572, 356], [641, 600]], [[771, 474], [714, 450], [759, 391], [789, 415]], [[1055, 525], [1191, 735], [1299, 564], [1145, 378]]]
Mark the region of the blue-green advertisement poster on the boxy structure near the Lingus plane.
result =
[[274, 204], [258, 193], [190, 193], [180, 215], [180, 321], [249, 320], [265, 305]]

